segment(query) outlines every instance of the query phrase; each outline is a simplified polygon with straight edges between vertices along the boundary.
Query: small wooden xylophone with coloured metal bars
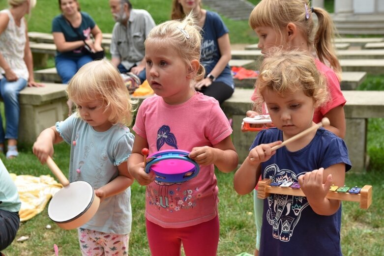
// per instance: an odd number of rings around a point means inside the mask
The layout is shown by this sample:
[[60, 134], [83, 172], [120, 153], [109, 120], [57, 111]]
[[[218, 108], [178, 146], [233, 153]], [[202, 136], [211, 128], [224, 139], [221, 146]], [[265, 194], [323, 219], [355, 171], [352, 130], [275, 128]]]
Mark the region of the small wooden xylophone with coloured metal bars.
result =
[[[291, 184], [287, 182], [276, 184], [272, 183], [271, 179], [263, 179], [259, 181], [257, 197], [259, 199], [266, 199], [270, 196], [270, 194], [305, 197], [304, 193], [299, 187], [300, 186], [297, 182]], [[331, 186], [331, 189], [329, 190], [325, 198], [360, 202], [361, 209], [368, 209], [372, 203], [372, 186], [365, 185], [361, 189], [357, 187], [350, 189], [346, 186], [340, 188], [338, 188], [337, 186]]]

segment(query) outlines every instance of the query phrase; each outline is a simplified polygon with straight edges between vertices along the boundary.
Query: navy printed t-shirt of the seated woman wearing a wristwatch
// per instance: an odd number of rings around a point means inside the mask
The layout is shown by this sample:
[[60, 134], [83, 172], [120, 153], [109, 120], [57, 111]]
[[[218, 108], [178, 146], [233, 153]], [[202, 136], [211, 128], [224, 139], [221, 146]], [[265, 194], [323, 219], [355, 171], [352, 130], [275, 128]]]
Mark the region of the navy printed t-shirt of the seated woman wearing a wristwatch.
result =
[[[228, 28], [217, 13], [207, 11], [206, 21], [201, 32], [203, 41], [200, 57], [200, 62], [206, 68], [206, 75], [212, 71], [221, 57], [217, 39], [228, 33], [228, 31]], [[215, 81], [223, 82], [232, 88], [235, 87], [229, 64], [227, 64]]]

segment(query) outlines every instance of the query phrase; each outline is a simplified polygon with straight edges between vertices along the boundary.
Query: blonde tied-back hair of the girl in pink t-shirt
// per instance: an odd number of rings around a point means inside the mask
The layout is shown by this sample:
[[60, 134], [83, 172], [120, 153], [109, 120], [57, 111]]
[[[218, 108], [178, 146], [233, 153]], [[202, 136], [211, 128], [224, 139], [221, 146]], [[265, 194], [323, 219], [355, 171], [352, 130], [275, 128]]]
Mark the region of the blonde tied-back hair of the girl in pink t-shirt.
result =
[[193, 14], [190, 13], [183, 20], [167, 21], [152, 28], [145, 44], [151, 42], [175, 49], [190, 68], [192, 68], [192, 60], [198, 60], [199, 68], [194, 80], [200, 81], [206, 72], [200, 63], [201, 40], [200, 28], [196, 25]]

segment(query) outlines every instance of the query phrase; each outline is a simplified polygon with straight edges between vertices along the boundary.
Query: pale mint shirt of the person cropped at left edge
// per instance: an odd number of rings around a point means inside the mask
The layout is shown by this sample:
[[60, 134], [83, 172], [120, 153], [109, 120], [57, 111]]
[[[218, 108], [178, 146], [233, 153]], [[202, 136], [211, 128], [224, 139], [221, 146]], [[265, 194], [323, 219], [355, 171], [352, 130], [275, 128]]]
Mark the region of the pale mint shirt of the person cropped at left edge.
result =
[[0, 209], [19, 212], [21, 201], [15, 183], [0, 159]]

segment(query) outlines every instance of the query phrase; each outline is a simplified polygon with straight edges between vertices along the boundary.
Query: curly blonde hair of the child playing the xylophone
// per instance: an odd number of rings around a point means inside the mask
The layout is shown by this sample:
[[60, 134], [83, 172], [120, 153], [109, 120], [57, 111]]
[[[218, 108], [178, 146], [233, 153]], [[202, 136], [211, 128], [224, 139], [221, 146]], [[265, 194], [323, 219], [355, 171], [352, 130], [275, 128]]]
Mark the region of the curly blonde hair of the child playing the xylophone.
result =
[[262, 113], [263, 92], [266, 89], [284, 96], [302, 90], [312, 97], [316, 107], [329, 101], [326, 78], [322, 75], [310, 53], [272, 48], [264, 58], [256, 81], [257, 98], [254, 109]]

